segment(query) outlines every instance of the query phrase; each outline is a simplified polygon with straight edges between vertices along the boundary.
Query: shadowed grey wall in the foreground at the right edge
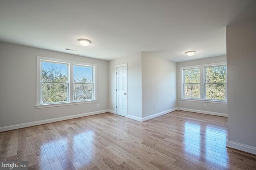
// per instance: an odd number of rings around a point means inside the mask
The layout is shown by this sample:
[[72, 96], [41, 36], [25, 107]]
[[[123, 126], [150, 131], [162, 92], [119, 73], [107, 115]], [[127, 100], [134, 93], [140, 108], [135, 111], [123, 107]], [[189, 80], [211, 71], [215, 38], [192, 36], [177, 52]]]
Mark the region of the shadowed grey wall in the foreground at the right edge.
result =
[[227, 26], [226, 33], [227, 145], [256, 154], [256, 19]]

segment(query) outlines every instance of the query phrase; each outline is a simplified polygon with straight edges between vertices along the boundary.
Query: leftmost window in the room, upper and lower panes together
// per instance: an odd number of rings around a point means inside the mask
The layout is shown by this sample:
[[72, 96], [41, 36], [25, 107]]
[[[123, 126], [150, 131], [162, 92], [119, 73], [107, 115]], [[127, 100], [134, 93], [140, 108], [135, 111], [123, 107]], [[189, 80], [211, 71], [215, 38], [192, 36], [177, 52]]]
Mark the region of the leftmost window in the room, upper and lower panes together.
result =
[[68, 102], [68, 63], [41, 61], [40, 104]]

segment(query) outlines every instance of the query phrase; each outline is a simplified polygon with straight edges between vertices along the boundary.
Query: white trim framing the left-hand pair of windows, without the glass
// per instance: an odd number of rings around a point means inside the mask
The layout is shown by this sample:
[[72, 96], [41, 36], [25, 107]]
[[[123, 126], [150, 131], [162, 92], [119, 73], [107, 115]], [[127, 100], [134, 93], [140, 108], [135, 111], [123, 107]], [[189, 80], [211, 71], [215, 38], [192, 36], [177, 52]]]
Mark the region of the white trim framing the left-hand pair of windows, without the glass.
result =
[[[60, 103], [49, 103], [49, 104], [40, 104], [40, 93], [41, 93], [41, 86], [40, 86], [40, 77], [41, 77], [41, 60], [49, 61], [49, 62], [58, 62], [58, 63], [65, 63], [69, 64], [69, 82], [68, 82], [68, 102], [60, 102]], [[73, 65], [82, 65], [82, 66], [90, 66], [94, 67], [93, 69], [93, 99], [92, 100], [81, 100], [81, 101], [73, 101], [73, 84], [74, 84], [74, 70]], [[94, 103], [97, 102], [97, 92], [96, 92], [96, 85], [97, 85], [97, 78], [96, 78], [96, 71], [97, 65], [90, 64], [90, 63], [81, 63], [76, 61], [68, 61], [62, 59], [54, 59], [48, 57], [40, 57], [37, 56], [37, 71], [36, 71], [36, 108], [44, 108], [44, 107], [57, 107], [57, 106], [67, 106], [67, 105], [74, 105], [74, 104], [86, 104], [86, 103]]]

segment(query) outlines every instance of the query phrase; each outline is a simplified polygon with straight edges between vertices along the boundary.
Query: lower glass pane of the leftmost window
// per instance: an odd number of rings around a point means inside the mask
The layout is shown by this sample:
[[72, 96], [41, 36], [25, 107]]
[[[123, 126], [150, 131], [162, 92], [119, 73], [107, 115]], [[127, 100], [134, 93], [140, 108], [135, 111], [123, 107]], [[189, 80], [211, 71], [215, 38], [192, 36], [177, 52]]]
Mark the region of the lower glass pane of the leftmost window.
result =
[[66, 83], [42, 83], [42, 103], [67, 102]]

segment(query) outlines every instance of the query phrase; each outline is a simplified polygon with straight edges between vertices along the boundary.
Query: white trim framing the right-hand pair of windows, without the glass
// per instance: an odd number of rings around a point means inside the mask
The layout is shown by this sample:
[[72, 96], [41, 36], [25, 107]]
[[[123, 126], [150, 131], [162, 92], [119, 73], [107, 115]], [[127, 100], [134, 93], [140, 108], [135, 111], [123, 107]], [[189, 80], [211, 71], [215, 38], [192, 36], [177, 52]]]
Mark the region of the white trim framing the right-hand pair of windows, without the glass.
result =
[[[185, 66], [180, 68], [180, 100], [184, 101], [194, 101], [194, 102], [207, 102], [207, 103], [218, 103], [218, 104], [227, 104], [228, 98], [227, 98], [227, 86], [226, 86], [226, 100], [209, 100], [205, 99], [205, 67], [210, 66], [220, 66], [220, 65], [226, 65], [226, 62], [220, 62], [220, 63], [212, 63], [212, 64], [200, 64], [195, 66]], [[192, 69], [192, 68], [200, 68], [200, 99], [197, 98], [184, 98], [184, 88], [183, 88], [183, 82], [184, 82], [184, 69]], [[227, 69], [226, 69], [226, 76], [227, 76]], [[226, 85], [227, 85], [227, 77], [226, 77]]]

